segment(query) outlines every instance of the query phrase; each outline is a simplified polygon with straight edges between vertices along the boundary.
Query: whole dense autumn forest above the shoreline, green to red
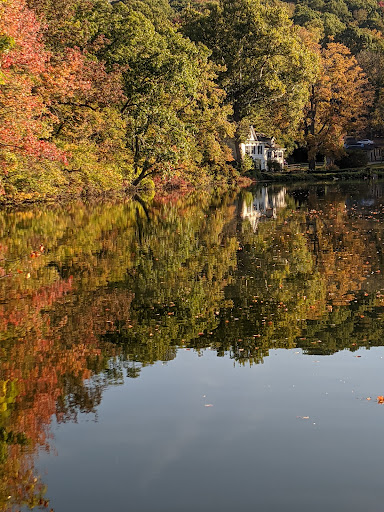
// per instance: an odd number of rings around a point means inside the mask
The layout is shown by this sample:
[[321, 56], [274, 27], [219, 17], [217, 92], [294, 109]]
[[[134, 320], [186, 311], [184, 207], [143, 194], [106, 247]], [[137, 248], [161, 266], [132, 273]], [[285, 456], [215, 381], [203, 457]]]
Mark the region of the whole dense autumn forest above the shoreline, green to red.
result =
[[0, 193], [236, 180], [250, 124], [331, 160], [380, 134], [375, 0], [0, 0]]

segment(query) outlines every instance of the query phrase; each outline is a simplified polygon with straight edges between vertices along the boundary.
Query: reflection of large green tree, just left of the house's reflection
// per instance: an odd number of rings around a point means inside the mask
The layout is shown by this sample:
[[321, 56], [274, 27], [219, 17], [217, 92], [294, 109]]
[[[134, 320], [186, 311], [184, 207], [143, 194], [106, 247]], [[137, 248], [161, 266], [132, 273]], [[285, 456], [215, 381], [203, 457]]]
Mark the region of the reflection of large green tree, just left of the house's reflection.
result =
[[172, 205], [151, 219], [120, 284], [133, 296], [129, 323], [119, 319], [120, 328], [104, 337], [123, 345], [126, 357], [143, 365], [166, 361], [177, 344], [216, 328], [223, 289], [236, 265], [230, 204], [212, 213], [193, 206], [187, 215]]

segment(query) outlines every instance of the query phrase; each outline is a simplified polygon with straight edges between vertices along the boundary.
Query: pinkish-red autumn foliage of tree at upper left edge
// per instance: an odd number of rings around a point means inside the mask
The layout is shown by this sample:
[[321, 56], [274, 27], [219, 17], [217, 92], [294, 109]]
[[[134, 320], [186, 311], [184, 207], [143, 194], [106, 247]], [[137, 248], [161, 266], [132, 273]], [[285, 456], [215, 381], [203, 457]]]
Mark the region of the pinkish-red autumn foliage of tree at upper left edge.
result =
[[37, 90], [50, 56], [36, 16], [23, 0], [0, 3], [0, 41], [1, 188], [19, 157], [55, 160], [65, 156], [48, 140], [54, 115]]

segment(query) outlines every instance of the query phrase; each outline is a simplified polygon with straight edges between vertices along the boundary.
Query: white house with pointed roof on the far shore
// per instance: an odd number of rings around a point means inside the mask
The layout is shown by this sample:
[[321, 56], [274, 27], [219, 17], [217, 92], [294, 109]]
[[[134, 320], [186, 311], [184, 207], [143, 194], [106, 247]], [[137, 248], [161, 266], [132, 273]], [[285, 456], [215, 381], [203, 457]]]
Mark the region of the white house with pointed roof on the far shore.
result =
[[249, 155], [257, 163], [259, 169], [267, 169], [268, 160], [278, 162], [284, 167], [284, 148], [275, 143], [274, 137], [266, 137], [250, 128], [249, 139], [240, 145], [243, 155]]

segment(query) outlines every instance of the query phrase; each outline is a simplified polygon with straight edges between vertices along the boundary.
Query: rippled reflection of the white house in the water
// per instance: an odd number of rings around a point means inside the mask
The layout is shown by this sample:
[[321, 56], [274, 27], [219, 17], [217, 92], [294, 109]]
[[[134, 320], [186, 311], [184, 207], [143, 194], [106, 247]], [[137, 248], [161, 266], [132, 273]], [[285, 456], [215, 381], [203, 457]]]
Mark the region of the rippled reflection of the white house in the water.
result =
[[276, 218], [278, 208], [284, 208], [286, 189], [279, 192], [268, 192], [267, 187], [259, 190], [252, 199], [252, 202], [244, 201], [241, 210], [242, 219], [248, 219], [253, 231], [256, 231], [262, 217]]

